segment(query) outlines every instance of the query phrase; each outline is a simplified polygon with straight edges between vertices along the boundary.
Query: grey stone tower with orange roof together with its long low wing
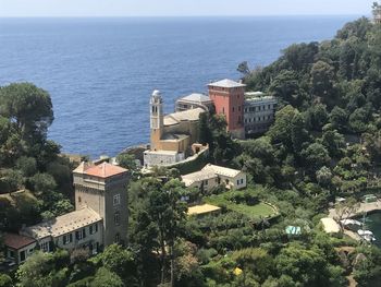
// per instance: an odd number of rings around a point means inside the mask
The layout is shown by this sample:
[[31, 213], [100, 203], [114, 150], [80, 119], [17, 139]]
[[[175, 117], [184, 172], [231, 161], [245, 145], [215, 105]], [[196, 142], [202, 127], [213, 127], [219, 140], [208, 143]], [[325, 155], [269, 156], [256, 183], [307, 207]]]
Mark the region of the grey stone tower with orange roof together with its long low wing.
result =
[[[112, 243], [126, 242], [128, 171], [107, 162], [82, 163], [73, 171], [73, 178], [75, 211], [22, 228], [21, 238], [30, 240], [25, 247], [28, 250], [38, 247], [51, 252], [56, 248], [70, 251], [81, 248], [96, 254]], [[21, 262], [23, 251], [17, 251]]]

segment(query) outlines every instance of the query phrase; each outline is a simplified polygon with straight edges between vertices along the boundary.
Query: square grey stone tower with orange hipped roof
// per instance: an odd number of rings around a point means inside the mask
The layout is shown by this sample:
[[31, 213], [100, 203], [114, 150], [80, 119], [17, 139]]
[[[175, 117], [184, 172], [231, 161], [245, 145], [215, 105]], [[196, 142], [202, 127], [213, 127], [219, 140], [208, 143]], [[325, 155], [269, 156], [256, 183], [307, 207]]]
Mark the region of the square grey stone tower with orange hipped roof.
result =
[[82, 163], [74, 171], [75, 208], [90, 207], [103, 218], [103, 246], [127, 238], [128, 171], [108, 163]]

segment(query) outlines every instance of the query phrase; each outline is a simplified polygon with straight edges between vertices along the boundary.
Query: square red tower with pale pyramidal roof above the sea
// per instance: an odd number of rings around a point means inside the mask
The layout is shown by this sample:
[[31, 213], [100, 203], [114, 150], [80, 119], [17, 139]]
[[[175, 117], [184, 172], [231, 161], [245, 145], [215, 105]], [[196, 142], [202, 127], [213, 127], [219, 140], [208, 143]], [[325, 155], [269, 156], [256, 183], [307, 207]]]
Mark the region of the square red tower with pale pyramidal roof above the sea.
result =
[[216, 112], [224, 115], [228, 131], [236, 139], [245, 139], [245, 86], [228, 79], [208, 85], [209, 97], [214, 104]]

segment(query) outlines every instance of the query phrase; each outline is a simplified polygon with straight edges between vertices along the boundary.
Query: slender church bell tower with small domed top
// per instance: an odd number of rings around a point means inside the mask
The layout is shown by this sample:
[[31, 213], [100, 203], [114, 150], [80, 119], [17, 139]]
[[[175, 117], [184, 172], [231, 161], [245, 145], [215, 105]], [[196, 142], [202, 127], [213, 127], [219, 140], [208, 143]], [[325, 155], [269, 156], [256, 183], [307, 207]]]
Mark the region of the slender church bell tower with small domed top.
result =
[[151, 151], [160, 150], [159, 142], [162, 136], [164, 125], [164, 115], [162, 109], [162, 97], [160, 92], [155, 89], [150, 101], [150, 144]]

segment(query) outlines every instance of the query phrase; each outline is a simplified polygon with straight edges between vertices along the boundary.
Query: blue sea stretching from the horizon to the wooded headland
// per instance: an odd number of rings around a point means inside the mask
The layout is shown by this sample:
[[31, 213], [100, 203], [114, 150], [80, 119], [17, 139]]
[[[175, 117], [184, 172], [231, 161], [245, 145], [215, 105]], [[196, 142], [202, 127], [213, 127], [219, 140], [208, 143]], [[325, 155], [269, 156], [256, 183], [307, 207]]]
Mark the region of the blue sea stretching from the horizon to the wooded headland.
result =
[[49, 137], [67, 153], [114, 155], [148, 142], [148, 100], [205, 92], [265, 65], [293, 43], [329, 39], [357, 16], [187, 19], [0, 19], [0, 85], [47, 89]]

